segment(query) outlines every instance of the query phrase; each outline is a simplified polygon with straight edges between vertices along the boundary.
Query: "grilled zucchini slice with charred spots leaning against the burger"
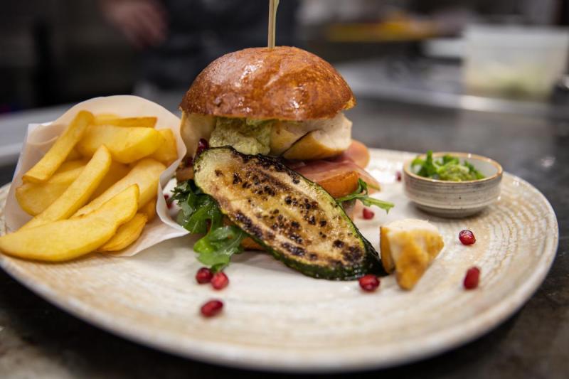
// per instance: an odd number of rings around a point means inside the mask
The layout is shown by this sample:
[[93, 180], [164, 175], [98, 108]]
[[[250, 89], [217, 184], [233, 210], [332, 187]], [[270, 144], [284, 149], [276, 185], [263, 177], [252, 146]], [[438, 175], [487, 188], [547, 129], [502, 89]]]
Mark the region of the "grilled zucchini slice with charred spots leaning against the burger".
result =
[[321, 186], [267, 156], [203, 151], [194, 181], [228, 218], [285, 265], [310, 277], [381, 273], [376, 250]]

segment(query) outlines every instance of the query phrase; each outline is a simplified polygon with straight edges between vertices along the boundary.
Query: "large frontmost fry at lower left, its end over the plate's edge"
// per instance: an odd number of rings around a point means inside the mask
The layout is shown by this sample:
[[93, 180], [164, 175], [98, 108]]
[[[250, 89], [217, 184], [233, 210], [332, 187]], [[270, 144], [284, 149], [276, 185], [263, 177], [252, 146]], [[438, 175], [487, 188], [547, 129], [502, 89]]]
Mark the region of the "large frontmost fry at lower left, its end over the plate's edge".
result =
[[0, 237], [0, 251], [31, 260], [71, 260], [92, 252], [137, 213], [138, 187], [130, 186], [83, 217], [20, 229]]

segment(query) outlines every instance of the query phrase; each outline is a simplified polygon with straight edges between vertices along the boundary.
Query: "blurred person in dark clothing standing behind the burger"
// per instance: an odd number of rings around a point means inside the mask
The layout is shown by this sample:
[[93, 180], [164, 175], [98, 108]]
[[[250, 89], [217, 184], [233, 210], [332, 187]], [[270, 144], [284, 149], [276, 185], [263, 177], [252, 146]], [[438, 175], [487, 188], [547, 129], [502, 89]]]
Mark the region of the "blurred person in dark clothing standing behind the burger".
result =
[[[99, 0], [103, 16], [140, 50], [134, 93], [169, 103], [230, 51], [266, 46], [268, 1]], [[298, 0], [280, 1], [277, 44], [296, 46]], [[174, 100], [172, 100], [174, 101]]]

